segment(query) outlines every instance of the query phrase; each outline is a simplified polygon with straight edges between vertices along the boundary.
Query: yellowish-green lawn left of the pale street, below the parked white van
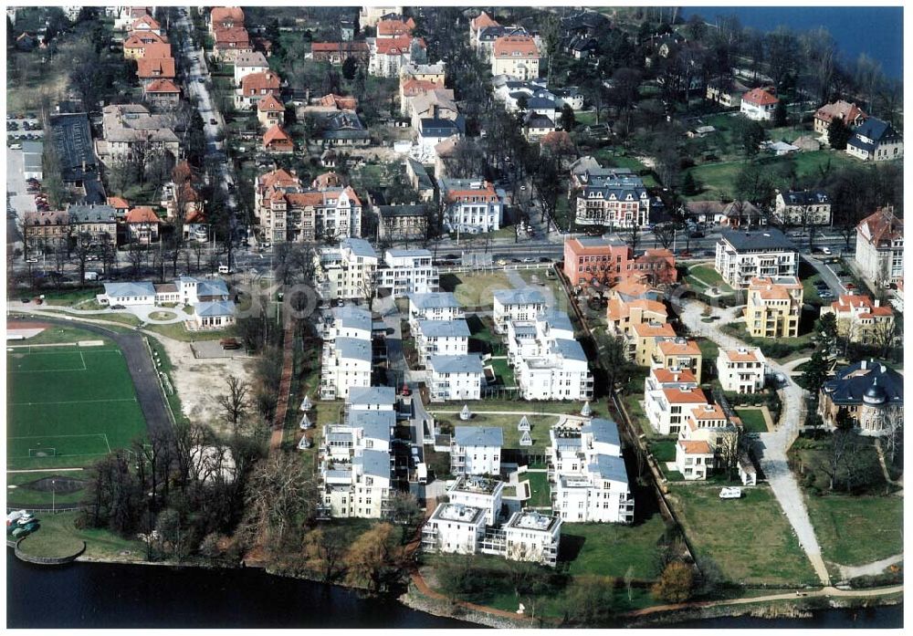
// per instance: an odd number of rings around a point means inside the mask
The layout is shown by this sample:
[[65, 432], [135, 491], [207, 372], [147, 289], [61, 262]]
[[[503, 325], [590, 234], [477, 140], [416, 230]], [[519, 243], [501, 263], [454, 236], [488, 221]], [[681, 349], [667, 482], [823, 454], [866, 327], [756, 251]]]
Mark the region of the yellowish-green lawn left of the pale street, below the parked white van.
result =
[[720, 499], [718, 488], [673, 487], [669, 501], [698, 558], [712, 558], [725, 579], [750, 585], [816, 583], [812, 565], [771, 491]]

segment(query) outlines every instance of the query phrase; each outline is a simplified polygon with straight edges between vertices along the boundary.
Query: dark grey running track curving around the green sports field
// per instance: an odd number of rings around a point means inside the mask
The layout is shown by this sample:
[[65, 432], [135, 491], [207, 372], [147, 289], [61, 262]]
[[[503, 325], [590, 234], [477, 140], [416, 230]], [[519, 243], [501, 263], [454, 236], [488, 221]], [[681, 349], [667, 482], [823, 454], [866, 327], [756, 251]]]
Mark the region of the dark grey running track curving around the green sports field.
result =
[[[77, 323], [74, 320], [49, 316], [47, 312], [28, 309], [25, 311], [40, 316], [40, 318], [24, 317], [23, 322], [46, 322], [60, 327], [73, 327], [74, 324], [78, 324], [81, 329], [114, 340], [121, 348], [124, 360], [127, 362], [127, 369], [130, 370], [133, 388], [136, 391], [136, 400], [140, 402], [142, 416], [146, 420], [149, 433], [165, 433], [169, 436], [173, 434], [171, 418], [165, 410], [164, 396], [159, 388], [158, 372], [152, 366], [149, 350], [138, 332], [120, 333], [85, 320], [79, 320]], [[123, 325], [120, 326], [123, 327]]]

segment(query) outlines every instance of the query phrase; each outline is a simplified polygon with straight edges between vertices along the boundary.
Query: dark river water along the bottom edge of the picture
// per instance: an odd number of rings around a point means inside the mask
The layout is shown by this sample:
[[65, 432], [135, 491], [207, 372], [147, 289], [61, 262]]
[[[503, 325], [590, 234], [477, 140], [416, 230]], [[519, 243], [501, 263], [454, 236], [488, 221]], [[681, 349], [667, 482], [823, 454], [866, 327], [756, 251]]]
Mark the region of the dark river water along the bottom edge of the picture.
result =
[[[257, 568], [205, 570], [75, 563], [43, 568], [6, 552], [7, 628], [477, 628], [410, 610], [392, 597]], [[683, 628], [897, 628], [903, 607], [828, 610], [813, 619], [723, 618]]]

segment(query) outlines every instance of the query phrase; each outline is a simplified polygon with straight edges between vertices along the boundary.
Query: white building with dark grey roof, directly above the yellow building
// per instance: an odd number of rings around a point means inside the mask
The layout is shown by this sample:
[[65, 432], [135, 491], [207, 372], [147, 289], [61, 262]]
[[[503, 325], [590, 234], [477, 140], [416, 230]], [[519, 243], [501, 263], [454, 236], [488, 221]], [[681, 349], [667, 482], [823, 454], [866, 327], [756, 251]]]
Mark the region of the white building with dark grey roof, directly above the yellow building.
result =
[[723, 230], [715, 266], [731, 287], [748, 287], [756, 276], [798, 276], [799, 250], [780, 230]]

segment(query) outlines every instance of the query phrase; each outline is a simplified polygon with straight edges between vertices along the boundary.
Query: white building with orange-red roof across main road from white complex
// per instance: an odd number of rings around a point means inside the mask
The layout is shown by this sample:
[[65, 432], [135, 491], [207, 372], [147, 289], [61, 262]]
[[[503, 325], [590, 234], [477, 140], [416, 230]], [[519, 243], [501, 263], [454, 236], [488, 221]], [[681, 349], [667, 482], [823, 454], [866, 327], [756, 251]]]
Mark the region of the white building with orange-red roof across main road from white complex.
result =
[[441, 201], [446, 203], [447, 232], [478, 234], [495, 232], [504, 216], [504, 191], [483, 179], [437, 180]]

